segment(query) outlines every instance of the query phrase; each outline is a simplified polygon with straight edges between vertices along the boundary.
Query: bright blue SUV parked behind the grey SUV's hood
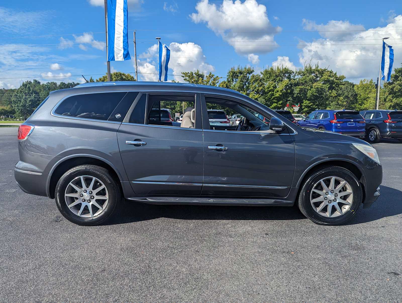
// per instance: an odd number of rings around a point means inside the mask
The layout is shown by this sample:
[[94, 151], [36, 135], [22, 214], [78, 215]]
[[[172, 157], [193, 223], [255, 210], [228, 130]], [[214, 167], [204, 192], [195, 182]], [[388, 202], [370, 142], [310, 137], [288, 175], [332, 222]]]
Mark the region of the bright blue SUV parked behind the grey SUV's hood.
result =
[[358, 138], [365, 137], [365, 121], [358, 111], [316, 110], [296, 124]]

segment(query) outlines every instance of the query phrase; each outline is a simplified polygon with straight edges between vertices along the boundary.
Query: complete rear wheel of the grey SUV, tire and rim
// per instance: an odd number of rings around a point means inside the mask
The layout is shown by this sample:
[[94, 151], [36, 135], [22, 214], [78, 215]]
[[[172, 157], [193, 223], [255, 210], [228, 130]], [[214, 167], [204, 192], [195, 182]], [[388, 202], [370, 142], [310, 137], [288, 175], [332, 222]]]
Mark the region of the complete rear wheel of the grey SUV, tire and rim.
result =
[[62, 215], [78, 225], [105, 222], [121, 201], [118, 181], [96, 165], [80, 165], [59, 179], [55, 200]]

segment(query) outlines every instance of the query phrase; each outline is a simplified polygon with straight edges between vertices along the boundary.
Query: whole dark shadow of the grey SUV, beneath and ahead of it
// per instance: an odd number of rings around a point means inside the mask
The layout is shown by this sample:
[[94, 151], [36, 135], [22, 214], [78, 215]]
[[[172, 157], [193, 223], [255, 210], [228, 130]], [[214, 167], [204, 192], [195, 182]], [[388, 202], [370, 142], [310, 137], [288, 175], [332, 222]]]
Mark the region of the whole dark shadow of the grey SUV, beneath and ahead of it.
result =
[[[370, 208], [359, 209], [347, 223], [355, 225], [376, 221], [402, 213], [401, 191], [381, 186], [381, 196]], [[285, 206], [211, 206], [211, 205], [153, 205], [125, 201], [106, 225], [124, 224], [156, 218], [180, 220], [300, 220], [306, 219], [297, 207]]]

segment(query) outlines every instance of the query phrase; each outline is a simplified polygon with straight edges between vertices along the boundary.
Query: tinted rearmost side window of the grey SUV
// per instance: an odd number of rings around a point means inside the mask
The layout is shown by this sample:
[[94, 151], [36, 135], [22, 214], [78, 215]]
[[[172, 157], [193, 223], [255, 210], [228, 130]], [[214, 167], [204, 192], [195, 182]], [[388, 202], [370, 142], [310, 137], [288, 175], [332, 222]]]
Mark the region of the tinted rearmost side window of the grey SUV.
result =
[[55, 113], [69, 117], [108, 120], [125, 95], [125, 92], [119, 92], [71, 96], [57, 107]]

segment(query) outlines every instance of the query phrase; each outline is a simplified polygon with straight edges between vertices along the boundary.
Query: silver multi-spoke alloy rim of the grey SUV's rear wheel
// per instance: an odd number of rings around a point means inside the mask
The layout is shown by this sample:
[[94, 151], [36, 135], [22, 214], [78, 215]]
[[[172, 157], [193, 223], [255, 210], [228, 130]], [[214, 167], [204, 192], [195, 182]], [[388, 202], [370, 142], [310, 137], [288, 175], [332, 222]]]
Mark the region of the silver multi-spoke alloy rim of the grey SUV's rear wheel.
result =
[[105, 184], [98, 178], [79, 176], [68, 183], [64, 199], [74, 214], [92, 218], [105, 210], [109, 202], [109, 193]]

